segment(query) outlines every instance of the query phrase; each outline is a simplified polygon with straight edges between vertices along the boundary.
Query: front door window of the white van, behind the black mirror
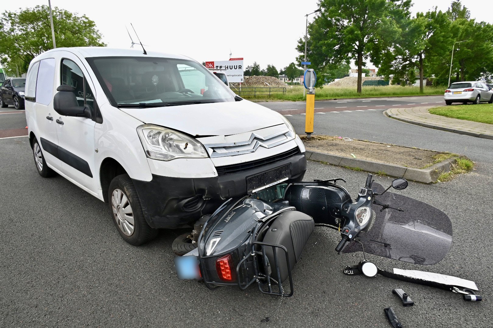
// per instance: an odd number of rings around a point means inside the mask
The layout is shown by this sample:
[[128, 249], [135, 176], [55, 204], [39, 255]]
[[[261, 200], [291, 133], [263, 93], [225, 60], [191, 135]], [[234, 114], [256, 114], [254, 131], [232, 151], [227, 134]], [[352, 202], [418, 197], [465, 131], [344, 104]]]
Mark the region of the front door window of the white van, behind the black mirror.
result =
[[69, 59], [64, 59], [61, 73], [62, 85], [69, 85], [75, 89], [74, 93], [79, 106], [86, 104], [94, 110], [94, 94], [79, 66]]

